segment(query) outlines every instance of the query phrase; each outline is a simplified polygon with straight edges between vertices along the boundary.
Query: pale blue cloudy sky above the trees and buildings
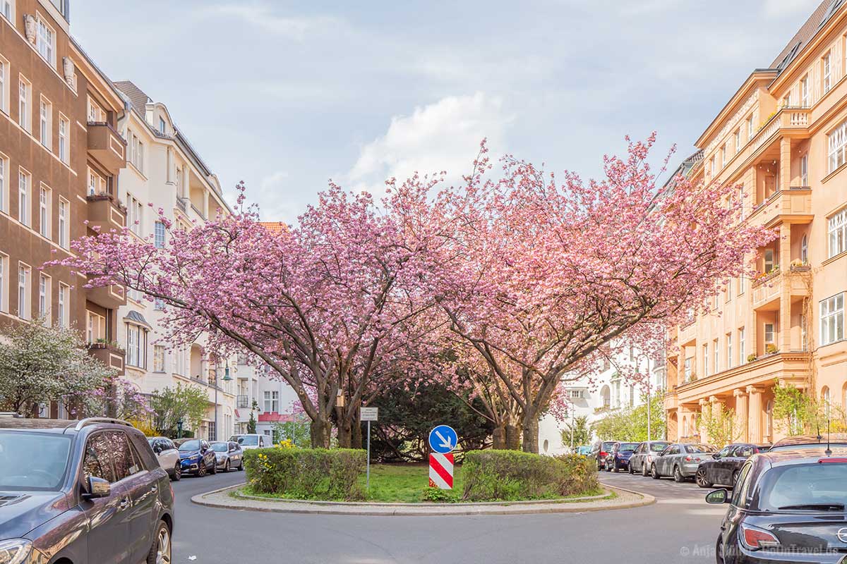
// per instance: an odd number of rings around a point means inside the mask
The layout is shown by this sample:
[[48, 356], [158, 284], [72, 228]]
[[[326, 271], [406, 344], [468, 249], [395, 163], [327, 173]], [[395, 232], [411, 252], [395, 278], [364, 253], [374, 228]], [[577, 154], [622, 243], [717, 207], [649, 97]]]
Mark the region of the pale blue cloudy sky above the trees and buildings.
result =
[[820, 0], [72, 0], [71, 33], [163, 102], [263, 220], [331, 178], [469, 171], [483, 138], [548, 170], [602, 172], [624, 136], [693, 151]]

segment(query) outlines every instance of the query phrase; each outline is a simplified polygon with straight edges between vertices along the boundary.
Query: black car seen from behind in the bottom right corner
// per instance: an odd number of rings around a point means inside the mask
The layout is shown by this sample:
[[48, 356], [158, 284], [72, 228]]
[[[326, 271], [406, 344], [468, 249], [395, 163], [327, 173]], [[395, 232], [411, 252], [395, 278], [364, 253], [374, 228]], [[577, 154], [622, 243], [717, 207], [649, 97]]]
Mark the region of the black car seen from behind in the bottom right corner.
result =
[[718, 564], [836, 564], [847, 554], [847, 449], [756, 454], [741, 468], [717, 537]]

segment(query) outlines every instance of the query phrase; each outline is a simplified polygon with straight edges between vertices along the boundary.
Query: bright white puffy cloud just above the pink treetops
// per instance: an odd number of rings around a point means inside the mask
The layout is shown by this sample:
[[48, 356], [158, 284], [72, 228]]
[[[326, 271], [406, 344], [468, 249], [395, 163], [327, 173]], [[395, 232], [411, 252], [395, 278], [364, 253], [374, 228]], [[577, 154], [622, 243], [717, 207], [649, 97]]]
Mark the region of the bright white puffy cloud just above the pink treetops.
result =
[[402, 180], [415, 171], [446, 171], [457, 178], [470, 172], [483, 138], [496, 153], [511, 121], [499, 97], [484, 92], [447, 96], [416, 107], [412, 115], [391, 118], [385, 134], [363, 146], [345, 179], [352, 188], [368, 188], [379, 194], [385, 179]]

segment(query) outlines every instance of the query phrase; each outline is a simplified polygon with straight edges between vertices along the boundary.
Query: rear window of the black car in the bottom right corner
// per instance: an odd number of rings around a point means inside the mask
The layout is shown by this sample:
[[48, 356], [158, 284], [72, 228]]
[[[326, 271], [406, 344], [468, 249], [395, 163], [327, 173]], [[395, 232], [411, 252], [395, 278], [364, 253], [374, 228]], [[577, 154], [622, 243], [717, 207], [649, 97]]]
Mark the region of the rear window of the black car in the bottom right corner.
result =
[[768, 470], [755, 496], [761, 511], [844, 511], [847, 464], [812, 463]]

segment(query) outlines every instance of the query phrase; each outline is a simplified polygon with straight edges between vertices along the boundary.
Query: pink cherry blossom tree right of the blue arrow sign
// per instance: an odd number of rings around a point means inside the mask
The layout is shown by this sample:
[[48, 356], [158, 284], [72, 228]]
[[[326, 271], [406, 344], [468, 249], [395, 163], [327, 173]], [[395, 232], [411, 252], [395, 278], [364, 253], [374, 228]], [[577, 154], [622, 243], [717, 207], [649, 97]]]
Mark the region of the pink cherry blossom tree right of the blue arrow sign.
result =
[[440, 196], [455, 219], [431, 292], [518, 404], [526, 451], [538, 452], [538, 419], [563, 379], [604, 345], [655, 342], [752, 274], [745, 256], [774, 237], [739, 224], [734, 186], [676, 178], [660, 189], [647, 163], [654, 141], [604, 157], [605, 178], [590, 182], [512, 156], [492, 179], [483, 144], [465, 183]]

